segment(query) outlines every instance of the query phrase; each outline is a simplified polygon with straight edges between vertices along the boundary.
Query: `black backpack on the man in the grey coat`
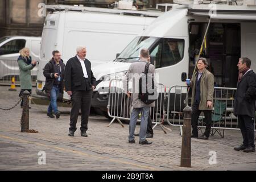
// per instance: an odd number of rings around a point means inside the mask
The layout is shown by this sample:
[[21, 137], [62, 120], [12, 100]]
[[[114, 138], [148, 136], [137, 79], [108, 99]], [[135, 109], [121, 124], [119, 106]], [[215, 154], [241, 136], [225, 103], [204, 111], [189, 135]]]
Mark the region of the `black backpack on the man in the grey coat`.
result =
[[[149, 96], [154, 96], [155, 92], [148, 93], [148, 78], [147, 78], [147, 73], [148, 73], [148, 67], [150, 63], [147, 63], [145, 65], [144, 72], [142, 72], [141, 78], [139, 78], [139, 99], [144, 103], [144, 104], [151, 104], [152, 102], [155, 102], [156, 99], [152, 100], [149, 99]], [[152, 87], [151, 89], [154, 90], [154, 80], [152, 79]], [[146, 80], [146, 81], [145, 81]], [[145, 92], [146, 91], [146, 92]], [[155, 90], [154, 90], [155, 91]]]

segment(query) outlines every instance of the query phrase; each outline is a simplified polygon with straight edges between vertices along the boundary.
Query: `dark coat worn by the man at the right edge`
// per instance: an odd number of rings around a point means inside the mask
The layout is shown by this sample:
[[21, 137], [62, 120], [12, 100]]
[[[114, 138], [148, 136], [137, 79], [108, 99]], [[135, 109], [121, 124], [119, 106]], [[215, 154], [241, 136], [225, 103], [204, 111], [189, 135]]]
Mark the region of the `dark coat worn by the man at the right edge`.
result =
[[234, 100], [235, 115], [249, 115], [254, 117], [255, 100], [253, 98], [256, 93], [256, 75], [251, 70], [242, 77], [237, 84], [237, 91]]

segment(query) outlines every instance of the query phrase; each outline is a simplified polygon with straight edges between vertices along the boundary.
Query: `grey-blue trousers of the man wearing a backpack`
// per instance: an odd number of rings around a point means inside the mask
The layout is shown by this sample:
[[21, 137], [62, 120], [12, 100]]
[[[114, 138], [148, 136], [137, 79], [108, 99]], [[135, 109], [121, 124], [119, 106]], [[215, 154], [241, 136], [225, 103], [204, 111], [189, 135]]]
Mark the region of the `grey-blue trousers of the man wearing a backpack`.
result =
[[137, 118], [141, 111], [141, 127], [139, 129], [139, 142], [143, 142], [147, 137], [147, 118], [150, 107], [133, 108], [129, 124], [129, 140], [134, 140], [134, 131], [137, 123]]

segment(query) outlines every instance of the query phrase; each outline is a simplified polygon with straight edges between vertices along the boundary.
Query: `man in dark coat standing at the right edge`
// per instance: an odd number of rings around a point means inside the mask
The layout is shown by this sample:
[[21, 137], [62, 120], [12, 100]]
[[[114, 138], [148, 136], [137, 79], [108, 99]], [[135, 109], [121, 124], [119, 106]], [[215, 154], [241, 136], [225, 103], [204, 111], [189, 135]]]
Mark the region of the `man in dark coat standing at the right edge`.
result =
[[256, 75], [251, 67], [251, 60], [241, 57], [238, 61], [239, 69], [237, 92], [234, 100], [234, 114], [238, 117], [243, 144], [234, 147], [234, 150], [243, 152], [255, 152], [254, 145], [254, 112], [256, 93]]

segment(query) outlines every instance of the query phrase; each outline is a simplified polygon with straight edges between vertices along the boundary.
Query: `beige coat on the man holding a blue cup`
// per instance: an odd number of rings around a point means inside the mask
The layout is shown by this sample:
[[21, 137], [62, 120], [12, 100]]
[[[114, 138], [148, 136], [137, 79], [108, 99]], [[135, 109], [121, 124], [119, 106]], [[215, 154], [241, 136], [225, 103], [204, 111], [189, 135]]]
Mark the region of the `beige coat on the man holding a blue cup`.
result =
[[[193, 73], [193, 76], [191, 78], [191, 85], [192, 88], [192, 102], [193, 105], [195, 100], [195, 80], [196, 80], [196, 73]], [[214, 76], [212, 73], [210, 73], [207, 69], [204, 69], [203, 75], [201, 76], [201, 82], [200, 82], [200, 96], [201, 101], [199, 104], [199, 110], [212, 110], [213, 107], [213, 92], [214, 92]], [[212, 101], [212, 107], [207, 107], [207, 101]]]

